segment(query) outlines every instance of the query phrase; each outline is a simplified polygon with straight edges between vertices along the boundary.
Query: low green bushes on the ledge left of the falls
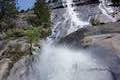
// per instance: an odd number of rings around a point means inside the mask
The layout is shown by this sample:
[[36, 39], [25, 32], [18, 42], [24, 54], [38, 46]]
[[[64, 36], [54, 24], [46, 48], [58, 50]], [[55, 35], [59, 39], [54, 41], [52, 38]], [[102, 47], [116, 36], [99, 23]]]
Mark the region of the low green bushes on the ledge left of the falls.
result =
[[35, 43], [39, 39], [46, 38], [51, 34], [50, 27], [31, 27], [28, 29], [18, 29], [13, 28], [5, 32], [6, 39], [9, 38], [18, 38], [18, 37], [27, 37], [30, 43]]

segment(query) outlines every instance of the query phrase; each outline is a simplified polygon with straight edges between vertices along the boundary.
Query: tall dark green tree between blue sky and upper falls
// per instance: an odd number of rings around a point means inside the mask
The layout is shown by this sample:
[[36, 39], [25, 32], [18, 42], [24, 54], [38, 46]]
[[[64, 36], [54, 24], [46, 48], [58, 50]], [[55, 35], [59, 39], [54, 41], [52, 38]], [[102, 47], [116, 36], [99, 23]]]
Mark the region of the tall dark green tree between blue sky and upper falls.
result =
[[37, 15], [36, 20], [37, 20], [37, 22], [39, 22], [40, 25], [47, 24], [50, 26], [50, 24], [51, 24], [51, 20], [50, 20], [51, 14], [50, 13], [51, 12], [43, 0], [37, 0], [33, 10], [34, 10], [34, 13]]

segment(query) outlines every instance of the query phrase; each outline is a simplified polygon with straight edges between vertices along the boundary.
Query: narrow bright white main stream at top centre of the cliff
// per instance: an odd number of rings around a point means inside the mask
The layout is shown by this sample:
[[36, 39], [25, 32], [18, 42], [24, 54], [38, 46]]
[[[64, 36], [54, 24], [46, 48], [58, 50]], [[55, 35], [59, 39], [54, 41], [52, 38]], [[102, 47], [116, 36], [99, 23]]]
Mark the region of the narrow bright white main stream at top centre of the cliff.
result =
[[78, 14], [74, 11], [75, 7], [72, 6], [74, 4], [73, 0], [63, 0], [63, 2], [65, 2], [65, 3], [63, 3], [63, 5], [67, 5], [66, 13], [68, 14], [68, 16], [71, 19], [71, 26], [70, 26], [67, 34], [72, 33], [74, 31], [78, 30], [79, 28], [83, 28], [83, 27], [89, 25], [89, 22], [83, 21], [82, 19], [80, 19], [77, 16]]

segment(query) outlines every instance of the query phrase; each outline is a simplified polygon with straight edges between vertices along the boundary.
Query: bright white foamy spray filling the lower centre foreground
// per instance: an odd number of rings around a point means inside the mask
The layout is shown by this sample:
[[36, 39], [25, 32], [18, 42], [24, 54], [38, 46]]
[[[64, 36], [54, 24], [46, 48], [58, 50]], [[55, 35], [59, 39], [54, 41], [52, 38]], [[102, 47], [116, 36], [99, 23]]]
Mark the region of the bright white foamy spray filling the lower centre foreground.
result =
[[109, 72], [97, 71], [104, 68], [83, 50], [44, 46], [39, 59], [35, 66], [40, 80], [111, 80]]

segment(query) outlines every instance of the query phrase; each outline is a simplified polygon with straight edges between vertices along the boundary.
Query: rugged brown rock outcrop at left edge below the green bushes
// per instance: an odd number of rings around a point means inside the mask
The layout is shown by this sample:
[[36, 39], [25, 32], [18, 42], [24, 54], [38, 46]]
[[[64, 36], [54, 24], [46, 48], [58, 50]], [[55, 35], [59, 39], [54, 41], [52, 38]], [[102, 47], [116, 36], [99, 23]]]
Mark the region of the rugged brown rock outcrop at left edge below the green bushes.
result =
[[14, 63], [30, 55], [29, 49], [25, 38], [0, 41], [0, 80], [7, 80]]

